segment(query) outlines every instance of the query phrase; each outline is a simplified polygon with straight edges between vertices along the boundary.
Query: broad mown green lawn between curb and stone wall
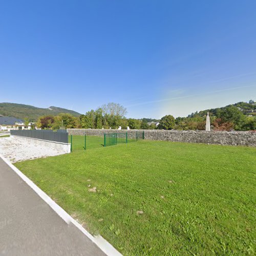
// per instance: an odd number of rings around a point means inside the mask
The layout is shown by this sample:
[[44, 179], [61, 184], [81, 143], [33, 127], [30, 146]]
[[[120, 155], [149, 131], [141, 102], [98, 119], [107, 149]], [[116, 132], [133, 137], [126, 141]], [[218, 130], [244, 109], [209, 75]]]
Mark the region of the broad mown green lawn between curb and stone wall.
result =
[[73, 136], [71, 154], [15, 165], [121, 253], [255, 253], [256, 148], [146, 140], [103, 147], [103, 138], [88, 137], [84, 151], [83, 140]]

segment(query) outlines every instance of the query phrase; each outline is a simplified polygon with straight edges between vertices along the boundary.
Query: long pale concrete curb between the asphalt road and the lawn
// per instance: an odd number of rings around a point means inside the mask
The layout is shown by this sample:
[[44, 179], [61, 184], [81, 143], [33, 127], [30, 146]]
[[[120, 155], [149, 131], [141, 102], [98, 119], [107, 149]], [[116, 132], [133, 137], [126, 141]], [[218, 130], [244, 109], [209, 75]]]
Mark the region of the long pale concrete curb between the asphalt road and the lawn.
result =
[[33, 183], [26, 175], [24, 175], [20, 170], [15, 167], [11, 162], [4, 158], [0, 154], [0, 158], [8, 164], [12, 170], [23, 180], [25, 181], [35, 193], [44, 200], [55, 212], [56, 214], [63, 219], [67, 224], [74, 224], [83, 234], [85, 234], [92, 242], [94, 242], [106, 255], [121, 256], [122, 254], [114, 248], [108, 241], [106, 241], [101, 236], [94, 237], [90, 234], [85, 228], [82, 227], [76, 220], [74, 220], [68, 212], [62, 209], [58, 204], [56, 204], [44, 191], [42, 191], [35, 183]]

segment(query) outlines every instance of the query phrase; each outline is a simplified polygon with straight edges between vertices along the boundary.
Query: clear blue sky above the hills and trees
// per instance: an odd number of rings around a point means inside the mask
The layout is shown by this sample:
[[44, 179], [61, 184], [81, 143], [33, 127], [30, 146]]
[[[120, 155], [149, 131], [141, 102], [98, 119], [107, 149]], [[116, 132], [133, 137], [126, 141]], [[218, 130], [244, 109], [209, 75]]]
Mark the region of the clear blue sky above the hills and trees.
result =
[[160, 118], [256, 100], [255, 13], [255, 0], [0, 0], [0, 102]]

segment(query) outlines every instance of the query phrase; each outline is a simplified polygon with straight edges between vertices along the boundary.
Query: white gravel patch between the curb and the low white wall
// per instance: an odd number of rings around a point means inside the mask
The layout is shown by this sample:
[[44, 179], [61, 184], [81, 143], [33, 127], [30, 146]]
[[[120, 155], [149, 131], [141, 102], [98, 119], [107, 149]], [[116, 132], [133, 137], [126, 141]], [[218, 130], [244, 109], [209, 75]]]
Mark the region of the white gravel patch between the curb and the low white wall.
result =
[[10, 162], [64, 154], [62, 151], [27, 142], [22, 138], [0, 138], [0, 154]]

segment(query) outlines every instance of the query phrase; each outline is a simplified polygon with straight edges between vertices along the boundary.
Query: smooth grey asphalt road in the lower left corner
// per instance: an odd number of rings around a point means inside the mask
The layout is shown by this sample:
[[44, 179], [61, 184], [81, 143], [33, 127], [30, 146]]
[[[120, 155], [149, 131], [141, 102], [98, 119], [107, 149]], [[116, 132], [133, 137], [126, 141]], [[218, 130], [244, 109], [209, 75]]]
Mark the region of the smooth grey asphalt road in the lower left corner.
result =
[[0, 158], [0, 255], [105, 255]]

